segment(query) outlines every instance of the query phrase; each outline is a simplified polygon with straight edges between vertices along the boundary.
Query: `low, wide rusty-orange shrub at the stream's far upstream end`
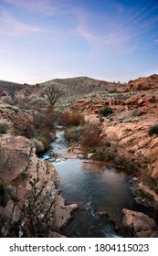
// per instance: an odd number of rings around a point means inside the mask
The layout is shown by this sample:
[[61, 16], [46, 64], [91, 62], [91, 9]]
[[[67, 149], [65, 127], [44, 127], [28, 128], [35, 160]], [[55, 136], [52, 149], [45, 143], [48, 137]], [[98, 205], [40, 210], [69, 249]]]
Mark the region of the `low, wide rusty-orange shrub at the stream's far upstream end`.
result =
[[79, 112], [65, 112], [60, 119], [59, 122], [64, 126], [79, 126], [84, 123], [83, 115], [79, 114]]

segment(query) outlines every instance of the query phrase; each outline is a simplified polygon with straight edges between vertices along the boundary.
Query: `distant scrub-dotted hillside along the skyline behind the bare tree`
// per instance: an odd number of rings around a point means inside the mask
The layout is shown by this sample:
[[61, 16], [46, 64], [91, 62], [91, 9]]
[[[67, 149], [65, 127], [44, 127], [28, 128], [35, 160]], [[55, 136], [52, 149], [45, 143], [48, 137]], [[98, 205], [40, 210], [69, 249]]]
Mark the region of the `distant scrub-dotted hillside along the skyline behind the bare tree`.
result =
[[70, 104], [85, 95], [95, 95], [106, 91], [123, 90], [124, 85], [105, 80], [94, 80], [88, 77], [78, 77], [69, 79], [55, 79], [46, 82], [30, 84], [18, 84], [0, 80], [0, 99], [3, 96], [11, 96], [12, 99], [20, 97], [42, 96], [43, 91], [48, 86], [55, 85], [62, 95], [59, 98], [58, 104]]

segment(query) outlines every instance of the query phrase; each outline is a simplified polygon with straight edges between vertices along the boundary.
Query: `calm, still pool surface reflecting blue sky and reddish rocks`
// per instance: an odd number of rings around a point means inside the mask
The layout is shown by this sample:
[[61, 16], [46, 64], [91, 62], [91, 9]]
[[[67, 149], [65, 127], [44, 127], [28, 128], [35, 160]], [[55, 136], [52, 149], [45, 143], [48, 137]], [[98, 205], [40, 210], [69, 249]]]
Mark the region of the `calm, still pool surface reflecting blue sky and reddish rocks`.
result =
[[55, 163], [61, 178], [62, 193], [68, 203], [92, 203], [97, 211], [106, 210], [112, 219], [120, 220], [121, 209], [133, 205], [126, 175], [104, 165], [90, 165], [79, 159]]

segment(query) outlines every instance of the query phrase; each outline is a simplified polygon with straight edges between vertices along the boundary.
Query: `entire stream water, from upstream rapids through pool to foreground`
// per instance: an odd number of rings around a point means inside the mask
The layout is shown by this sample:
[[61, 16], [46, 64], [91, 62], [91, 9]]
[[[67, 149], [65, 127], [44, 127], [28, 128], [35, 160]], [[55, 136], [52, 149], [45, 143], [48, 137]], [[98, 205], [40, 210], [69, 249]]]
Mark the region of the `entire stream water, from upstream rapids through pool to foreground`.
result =
[[[51, 144], [53, 153], [67, 152], [68, 142], [64, 132], [57, 131], [57, 137]], [[83, 159], [65, 160], [51, 155], [52, 151], [48, 151], [42, 159], [49, 158], [55, 165], [66, 204], [79, 205], [74, 219], [62, 229], [62, 233], [67, 237], [120, 237], [115, 224], [121, 222], [121, 209], [141, 209], [133, 199], [130, 177], [102, 164], [84, 163]]]

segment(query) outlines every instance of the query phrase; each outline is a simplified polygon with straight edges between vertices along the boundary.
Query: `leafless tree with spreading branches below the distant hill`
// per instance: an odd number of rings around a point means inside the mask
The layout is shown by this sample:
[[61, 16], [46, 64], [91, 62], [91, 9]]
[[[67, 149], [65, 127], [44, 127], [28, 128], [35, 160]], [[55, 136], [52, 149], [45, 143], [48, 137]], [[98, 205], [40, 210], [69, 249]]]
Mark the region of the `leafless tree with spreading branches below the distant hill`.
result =
[[58, 98], [63, 94], [62, 91], [60, 91], [57, 87], [57, 85], [52, 84], [47, 86], [47, 88], [44, 91], [44, 95], [47, 96], [47, 100], [49, 101], [49, 104], [54, 106], [54, 104], [58, 101]]

